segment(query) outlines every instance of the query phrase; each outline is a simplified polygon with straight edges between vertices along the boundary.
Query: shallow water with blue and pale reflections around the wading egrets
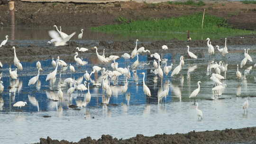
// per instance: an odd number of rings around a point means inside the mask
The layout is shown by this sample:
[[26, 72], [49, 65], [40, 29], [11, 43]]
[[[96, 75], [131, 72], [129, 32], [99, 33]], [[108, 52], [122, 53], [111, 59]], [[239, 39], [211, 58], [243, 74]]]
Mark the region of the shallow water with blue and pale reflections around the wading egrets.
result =
[[[22, 63], [23, 71], [18, 72], [19, 78], [16, 81], [9, 78], [9, 65], [4, 65], [0, 69], [3, 75], [1, 81], [5, 87], [4, 91], [0, 93], [0, 97], [3, 99], [3, 103], [0, 103], [0, 139], [5, 144], [29, 144], [38, 142], [40, 137], [46, 136], [59, 140], [79, 141], [86, 136], [98, 139], [103, 134], [129, 138], [136, 134], [152, 136], [163, 133], [187, 133], [192, 130], [205, 131], [256, 126], [256, 98], [250, 98], [248, 113], [244, 114], [242, 104], [245, 99], [236, 97], [237, 95], [255, 96], [256, 90], [254, 69], [247, 74], [247, 80], [241, 81], [241, 85], [238, 86], [235, 79], [236, 64], [240, 63], [244, 57], [243, 50], [241, 50], [244, 47], [251, 49], [249, 51], [251, 57], [256, 56], [255, 46], [228, 47], [229, 54], [223, 61], [225, 64], [229, 64], [227, 80], [223, 81], [228, 87], [220, 97], [225, 99], [218, 100], [207, 100], [213, 98], [211, 91], [213, 83], [206, 71], [209, 61], [206, 48], [198, 53], [199, 59], [197, 60], [191, 60], [187, 54], [183, 54], [185, 65], [181, 75], [170, 77], [170, 72], [169, 76], [164, 76], [163, 81], [158, 79], [156, 84], [153, 83], [154, 73], [151, 72], [154, 59], [146, 54], [139, 55], [138, 81], [134, 81], [133, 72], [131, 72], [127, 92], [121, 92], [121, 85], [125, 82], [124, 76], [119, 76], [117, 85], [113, 85], [114, 83], [111, 81], [113, 94], [110, 97], [110, 105], [106, 106], [101, 104], [101, 87], [90, 84], [91, 102], [86, 108], [79, 108], [81, 110], [74, 110], [68, 106], [71, 104], [84, 105], [83, 95], [76, 91], [72, 94], [73, 99], [69, 100], [69, 96], [66, 94], [68, 88], [63, 87], [64, 99], [59, 99], [56, 96], [57, 86], [62, 85], [64, 79], [68, 77], [82, 82], [85, 70], [91, 72], [91, 67], [95, 65], [91, 61], [91, 57], [84, 59], [89, 62], [85, 66], [71, 63], [75, 67], [75, 73], [71, 73], [67, 69], [66, 71], [62, 70], [60, 75], [61, 69], [59, 68], [53, 87], [49, 87], [49, 81], [45, 81], [47, 73], [54, 69], [51, 60], [41, 61], [44, 71], [40, 72], [40, 84], [36, 83], [34, 86], [27, 86], [27, 83], [30, 78], [37, 75], [36, 62]], [[199, 48], [190, 49], [192, 52], [193, 50], [199, 50]], [[174, 67], [178, 65], [180, 56], [181, 54], [177, 53], [164, 54], [164, 57], [168, 59], [167, 65], [174, 63]], [[216, 61], [219, 62], [219, 60], [222, 58], [217, 53]], [[130, 60], [128, 65], [134, 61], [136, 58]], [[117, 62], [119, 67], [127, 66], [123, 58], [119, 58]], [[253, 66], [253, 64], [253, 62], [247, 62], [245, 67]], [[108, 66], [97, 65], [111, 70], [110, 64]], [[13, 65], [11, 67], [14, 68]], [[188, 70], [192, 72], [188, 73]], [[244, 69], [239, 70], [244, 73]], [[150, 88], [152, 98], [148, 99], [144, 95], [143, 75], [139, 74], [140, 72], [146, 73], [146, 85]], [[100, 77], [101, 73], [99, 72], [99, 82]], [[94, 79], [94, 74], [92, 79]], [[198, 121], [193, 99], [188, 98], [190, 93], [197, 88], [197, 81], [202, 82], [197, 98], [199, 109], [203, 112], [202, 121]], [[161, 85], [165, 89], [169, 88], [169, 93], [166, 98], [163, 98], [163, 102], [158, 104], [156, 96]], [[9, 86], [14, 89], [9, 89]], [[85, 93], [87, 91], [83, 94]], [[21, 110], [13, 107], [13, 104], [20, 100], [27, 102], [27, 105]], [[51, 117], [44, 118], [43, 116]]]

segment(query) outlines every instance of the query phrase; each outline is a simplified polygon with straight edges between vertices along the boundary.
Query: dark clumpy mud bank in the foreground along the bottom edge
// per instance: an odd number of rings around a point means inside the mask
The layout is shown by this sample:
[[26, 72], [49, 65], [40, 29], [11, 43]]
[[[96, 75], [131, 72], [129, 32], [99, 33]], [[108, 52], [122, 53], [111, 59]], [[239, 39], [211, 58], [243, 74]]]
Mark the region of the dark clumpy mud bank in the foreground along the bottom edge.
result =
[[241, 129], [225, 129], [204, 132], [189, 132], [187, 134], [174, 135], [137, 135], [129, 139], [117, 139], [110, 135], [102, 135], [95, 140], [91, 137], [81, 139], [79, 142], [65, 140], [52, 140], [50, 137], [40, 138], [40, 143], [35, 144], [227, 144], [247, 143], [256, 140], [256, 127]]

